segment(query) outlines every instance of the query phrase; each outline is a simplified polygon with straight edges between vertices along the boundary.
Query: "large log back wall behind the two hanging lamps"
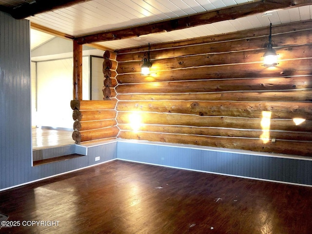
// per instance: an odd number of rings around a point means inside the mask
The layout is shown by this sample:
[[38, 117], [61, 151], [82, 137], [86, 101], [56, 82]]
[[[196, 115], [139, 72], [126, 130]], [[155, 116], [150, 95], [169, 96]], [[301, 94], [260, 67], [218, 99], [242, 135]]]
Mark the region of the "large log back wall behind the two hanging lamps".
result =
[[269, 25], [152, 45], [149, 77], [140, 75], [147, 46], [117, 51], [117, 137], [312, 156], [312, 20], [272, 33], [271, 68], [262, 66]]

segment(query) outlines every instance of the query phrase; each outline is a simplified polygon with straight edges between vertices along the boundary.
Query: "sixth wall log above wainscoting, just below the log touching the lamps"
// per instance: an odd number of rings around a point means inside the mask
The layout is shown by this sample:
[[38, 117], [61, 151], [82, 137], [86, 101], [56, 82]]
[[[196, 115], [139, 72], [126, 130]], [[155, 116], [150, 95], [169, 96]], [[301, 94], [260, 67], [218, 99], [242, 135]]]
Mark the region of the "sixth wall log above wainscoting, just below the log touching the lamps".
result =
[[196, 80], [123, 84], [116, 87], [118, 94], [135, 93], [207, 93], [227, 91], [270, 91], [312, 88], [312, 76], [287, 78], [249, 78]]

